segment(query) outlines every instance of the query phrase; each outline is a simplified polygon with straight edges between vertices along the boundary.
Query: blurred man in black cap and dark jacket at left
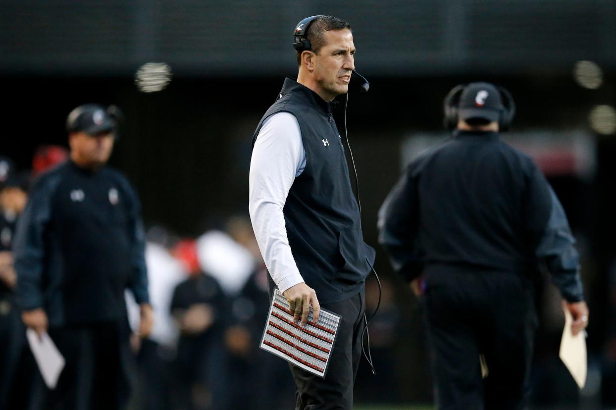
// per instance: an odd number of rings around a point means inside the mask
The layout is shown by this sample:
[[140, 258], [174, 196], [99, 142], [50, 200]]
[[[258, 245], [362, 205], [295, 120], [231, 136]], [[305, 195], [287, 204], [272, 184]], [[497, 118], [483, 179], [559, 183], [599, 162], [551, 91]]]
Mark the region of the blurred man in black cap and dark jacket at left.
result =
[[105, 167], [115, 106], [85, 104], [67, 119], [70, 159], [41, 175], [17, 224], [17, 301], [28, 328], [48, 331], [66, 360], [46, 408], [120, 409], [129, 398], [124, 290], [152, 328], [137, 195]]

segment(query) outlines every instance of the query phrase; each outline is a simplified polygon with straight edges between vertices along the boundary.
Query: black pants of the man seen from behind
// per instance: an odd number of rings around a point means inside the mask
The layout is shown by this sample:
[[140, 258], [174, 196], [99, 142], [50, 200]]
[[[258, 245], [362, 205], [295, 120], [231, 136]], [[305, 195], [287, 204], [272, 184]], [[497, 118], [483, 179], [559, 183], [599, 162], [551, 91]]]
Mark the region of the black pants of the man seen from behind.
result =
[[524, 409], [538, 323], [532, 283], [503, 272], [427, 270], [424, 307], [438, 408]]

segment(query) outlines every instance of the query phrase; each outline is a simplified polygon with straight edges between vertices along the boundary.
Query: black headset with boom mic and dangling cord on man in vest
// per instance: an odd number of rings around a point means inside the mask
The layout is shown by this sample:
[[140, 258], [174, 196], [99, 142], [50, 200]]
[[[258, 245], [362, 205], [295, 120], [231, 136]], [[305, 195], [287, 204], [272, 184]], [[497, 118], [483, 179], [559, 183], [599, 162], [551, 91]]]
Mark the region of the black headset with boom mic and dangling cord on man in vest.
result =
[[[304, 18], [304, 20], [299, 22], [298, 25], [295, 26], [295, 30], [293, 30], [293, 47], [294, 47], [294, 49], [299, 50], [299, 51], [312, 50], [312, 44], [310, 44], [309, 39], [307, 39], [307, 37], [306, 37], [306, 31], [308, 30], [308, 26], [310, 25], [310, 23], [312, 23], [318, 17], [322, 17], [322, 15], [314, 15], [312, 17], [306, 17], [306, 18]], [[362, 76], [362, 74], [357, 73], [357, 71], [353, 71], [353, 73], [357, 74], [357, 76], [360, 77], [363, 80], [363, 84], [362, 84], [362, 89], [361, 90], [362, 90], [362, 92], [367, 93], [368, 90], [370, 89], [370, 83], [368, 82], [366, 77]], [[351, 151], [351, 144], [349, 144], [349, 133], [347, 132], [347, 125], [346, 125], [346, 109], [347, 109], [347, 105], [348, 104], [349, 104], [349, 93], [346, 93], [346, 98], [344, 100], [344, 138], [345, 138], [346, 143], [347, 143], [347, 148], [349, 149], [349, 156], [351, 157], [351, 164], [353, 165], [353, 171], [355, 173], [355, 193], [357, 194], [357, 207], [359, 208], [359, 218], [360, 218], [360, 221], [361, 221], [361, 219], [362, 219], [362, 203], [359, 200], [359, 179], [357, 178], [357, 168], [355, 168], [355, 160], [353, 159], [353, 151]], [[366, 261], [370, 265], [370, 267], [372, 269], [372, 272], [374, 272], [375, 278], [376, 278], [376, 282], [379, 285], [379, 299], [378, 299], [378, 302], [376, 304], [375, 311], [372, 313], [370, 318], [367, 317], [365, 312], [363, 313], [364, 327], [363, 327], [362, 336], [361, 336], [361, 338], [362, 338], [362, 352], [363, 352], [363, 356], [368, 361], [368, 365], [370, 365], [370, 369], [372, 371], [372, 374], [376, 375], [375, 366], [372, 363], [372, 355], [370, 353], [370, 332], [368, 331], [368, 325], [370, 324], [370, 321], [372, 320], [372, 318], [375, 317], [376, 312], [379, 310], [379, 307], [381, 306], [381, 280], [379, 279], [379, 275], [376, 274], [375, 267], [372, 266], [372, 264], [370, 263], [370, 260], [368, 259], [368, 257], [366, 257]], [[368, 336], [367, 337], [368, 349], [364, 349], [364, 347], [363, 347], [363, 340], [364, 340], [363, 335], [364, 334], [366, 334]]]

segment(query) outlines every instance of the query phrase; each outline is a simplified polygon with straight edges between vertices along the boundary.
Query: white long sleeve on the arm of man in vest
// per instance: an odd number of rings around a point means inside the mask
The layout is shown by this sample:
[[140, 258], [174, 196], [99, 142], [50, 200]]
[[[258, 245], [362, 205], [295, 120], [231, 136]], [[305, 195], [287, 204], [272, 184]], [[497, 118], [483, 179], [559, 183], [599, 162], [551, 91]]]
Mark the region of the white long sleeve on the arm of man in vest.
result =
[[281, 292], [304, 282], [286, 237], [286, 196], [306, 167], [299, 123], [277, 112], [263, 123], [250, 161], [248, 211], [254, 235], [272, 279]]

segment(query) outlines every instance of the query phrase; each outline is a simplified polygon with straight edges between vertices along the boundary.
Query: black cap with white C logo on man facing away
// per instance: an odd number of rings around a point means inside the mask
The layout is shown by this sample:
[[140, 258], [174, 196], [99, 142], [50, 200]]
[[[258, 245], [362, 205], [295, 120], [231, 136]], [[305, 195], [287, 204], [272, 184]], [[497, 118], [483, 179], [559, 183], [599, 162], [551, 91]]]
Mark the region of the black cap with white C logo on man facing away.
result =
[[471, 82], [464, 87], [458, 105], [458, 117], [463, 120], [482, 118], [500, 120], [503, 101], [498, 89], [489, 82]]

